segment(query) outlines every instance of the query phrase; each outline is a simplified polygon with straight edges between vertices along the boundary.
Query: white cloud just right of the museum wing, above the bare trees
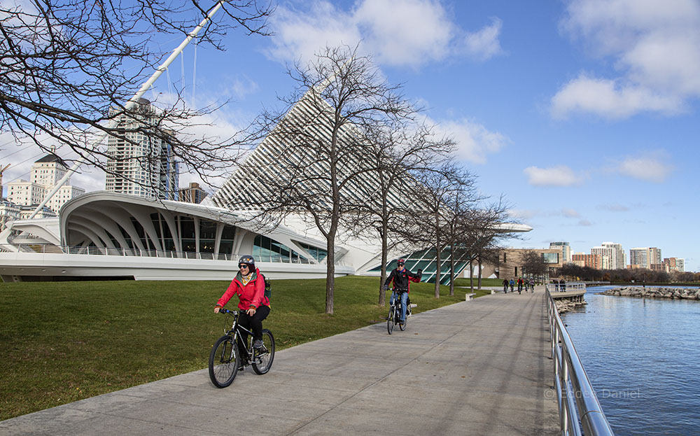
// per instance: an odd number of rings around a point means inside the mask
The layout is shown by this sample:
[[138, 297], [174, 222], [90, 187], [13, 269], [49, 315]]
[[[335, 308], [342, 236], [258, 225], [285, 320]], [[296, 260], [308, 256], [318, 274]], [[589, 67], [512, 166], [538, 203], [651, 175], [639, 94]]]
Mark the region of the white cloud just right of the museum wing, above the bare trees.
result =
[[486, 155], [497, 153], [508, 142], [503, 134], [466, 119], [442, 120], [437, 129], [454, 139], [459, 159], [475, 164], [486, 163]]

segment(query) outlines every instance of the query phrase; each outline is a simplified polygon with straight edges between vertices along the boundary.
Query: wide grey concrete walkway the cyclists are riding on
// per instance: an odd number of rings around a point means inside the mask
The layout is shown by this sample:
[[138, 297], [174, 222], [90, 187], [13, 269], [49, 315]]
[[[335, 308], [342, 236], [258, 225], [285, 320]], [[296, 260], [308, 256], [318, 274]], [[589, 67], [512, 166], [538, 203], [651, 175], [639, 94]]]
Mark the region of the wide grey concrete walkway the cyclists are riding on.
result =
[[0, 422], [0, 435], [555, 435], [545, 294], [309, 342], [228, 388], [200, 370]]

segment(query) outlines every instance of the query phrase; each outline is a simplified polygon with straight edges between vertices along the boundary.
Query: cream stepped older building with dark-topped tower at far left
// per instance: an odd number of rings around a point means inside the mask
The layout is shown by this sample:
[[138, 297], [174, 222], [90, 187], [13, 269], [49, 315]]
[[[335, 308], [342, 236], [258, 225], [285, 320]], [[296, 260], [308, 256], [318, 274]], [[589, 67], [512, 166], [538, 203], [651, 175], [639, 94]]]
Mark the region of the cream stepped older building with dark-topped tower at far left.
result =
[[[38, 205], [43, 202], [56, 183], [66, 175], [67, 170], [66, 164], [56, 155], [45, 155], [31, 166], [29, 181], [20, 180], [8, 183], [7, 199], [18, 206]], [[51, 197], [46, 203], [46, 207], [54, 213], [58, 213], [69, 199], [83, 194], [85, 194], [83, 188], [71, 186], [70, 182], [66, 183]]]

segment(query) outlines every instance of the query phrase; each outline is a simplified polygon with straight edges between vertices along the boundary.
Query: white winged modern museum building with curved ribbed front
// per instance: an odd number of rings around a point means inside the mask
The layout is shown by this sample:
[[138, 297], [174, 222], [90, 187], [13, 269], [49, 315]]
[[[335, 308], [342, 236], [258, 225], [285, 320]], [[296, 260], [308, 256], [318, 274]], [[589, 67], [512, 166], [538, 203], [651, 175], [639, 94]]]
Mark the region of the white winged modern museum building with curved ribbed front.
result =
[[[295, 126], [309, 138], [330, 137], [324, 120], [330, 106], [304, 96], [276, 129]], [[313, 122], [309, 122], [313, 120]], [[353, 134], [347, 125], [340, 132]], [[202, 204], [148, 199], [118, 192], [94, 191], [66, 202], [56, 218], [18, 220], [0, 233], [0, 276], [3, 281], [76, 279], [227, 280], [241, 255], [252, 254], [272, 279], [325, 277], [325, 239], [302, 212], [288, 213], [281, 224], [267, 227], [251, 220], [260, 209], [253, 198], [269, 198], [270, 177], [289, 178], [290, 166], [305, 171], [318, 185], [310, 192], [328, 192], [322, 177], [328, 167], [309, 148], [289, 147], [281, 136], [267, 136], [223, 186]], [[283, 154], [286, 150], [287, 153]], [[292, 162], [293, 161], [293, 162]], [[355, 162], [355, 165], [362, 164]], [[319, 177], [309, 177], [309, 174]], [[342, 195], [359, 201], [376, 192], [367, 174]], [[275, 184], [276, 185], [276, 184]], [[312, 201], [323, 202], [323, 196]], [[392, 206], [406, 206], [398, 195]], [[527, 232], [526, 225], [508, 225], [507, 232]], [[342, 230], [341, 230], [342, 232]], [[347, 238], [336, 243], [335, 273], [379, 275], [381, 245], [377, 239]], [[414, 247], [389, 254], [404, 257], [409, 269], [423, 269], [423, 281], [435, 281], [435, 250]], [[449, 269], [449, 251], [441, 270]], [[393, 267], [394, 265], [389, 265]], [[466, 266], [457, 262], [458, 271]], [[446, 277], [447, 278], [447, 277]]]

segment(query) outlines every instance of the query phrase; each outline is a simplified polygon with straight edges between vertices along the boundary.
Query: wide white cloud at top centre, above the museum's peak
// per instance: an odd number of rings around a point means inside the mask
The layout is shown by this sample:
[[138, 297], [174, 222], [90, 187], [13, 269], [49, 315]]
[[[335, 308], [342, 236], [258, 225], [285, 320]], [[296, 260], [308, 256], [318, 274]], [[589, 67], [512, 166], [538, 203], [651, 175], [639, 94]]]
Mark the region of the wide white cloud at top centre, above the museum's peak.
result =
[[379, 64], [418, 67], [460, 55], [500, 54], [498, 18], [482, 29], [460, 29], [439, 1], [358, 0], [351, 10], [317, 0], [305, 10], [279, 6], [270, 19], [274, 59], [306, 62], [325, 45], [356, 45]]

